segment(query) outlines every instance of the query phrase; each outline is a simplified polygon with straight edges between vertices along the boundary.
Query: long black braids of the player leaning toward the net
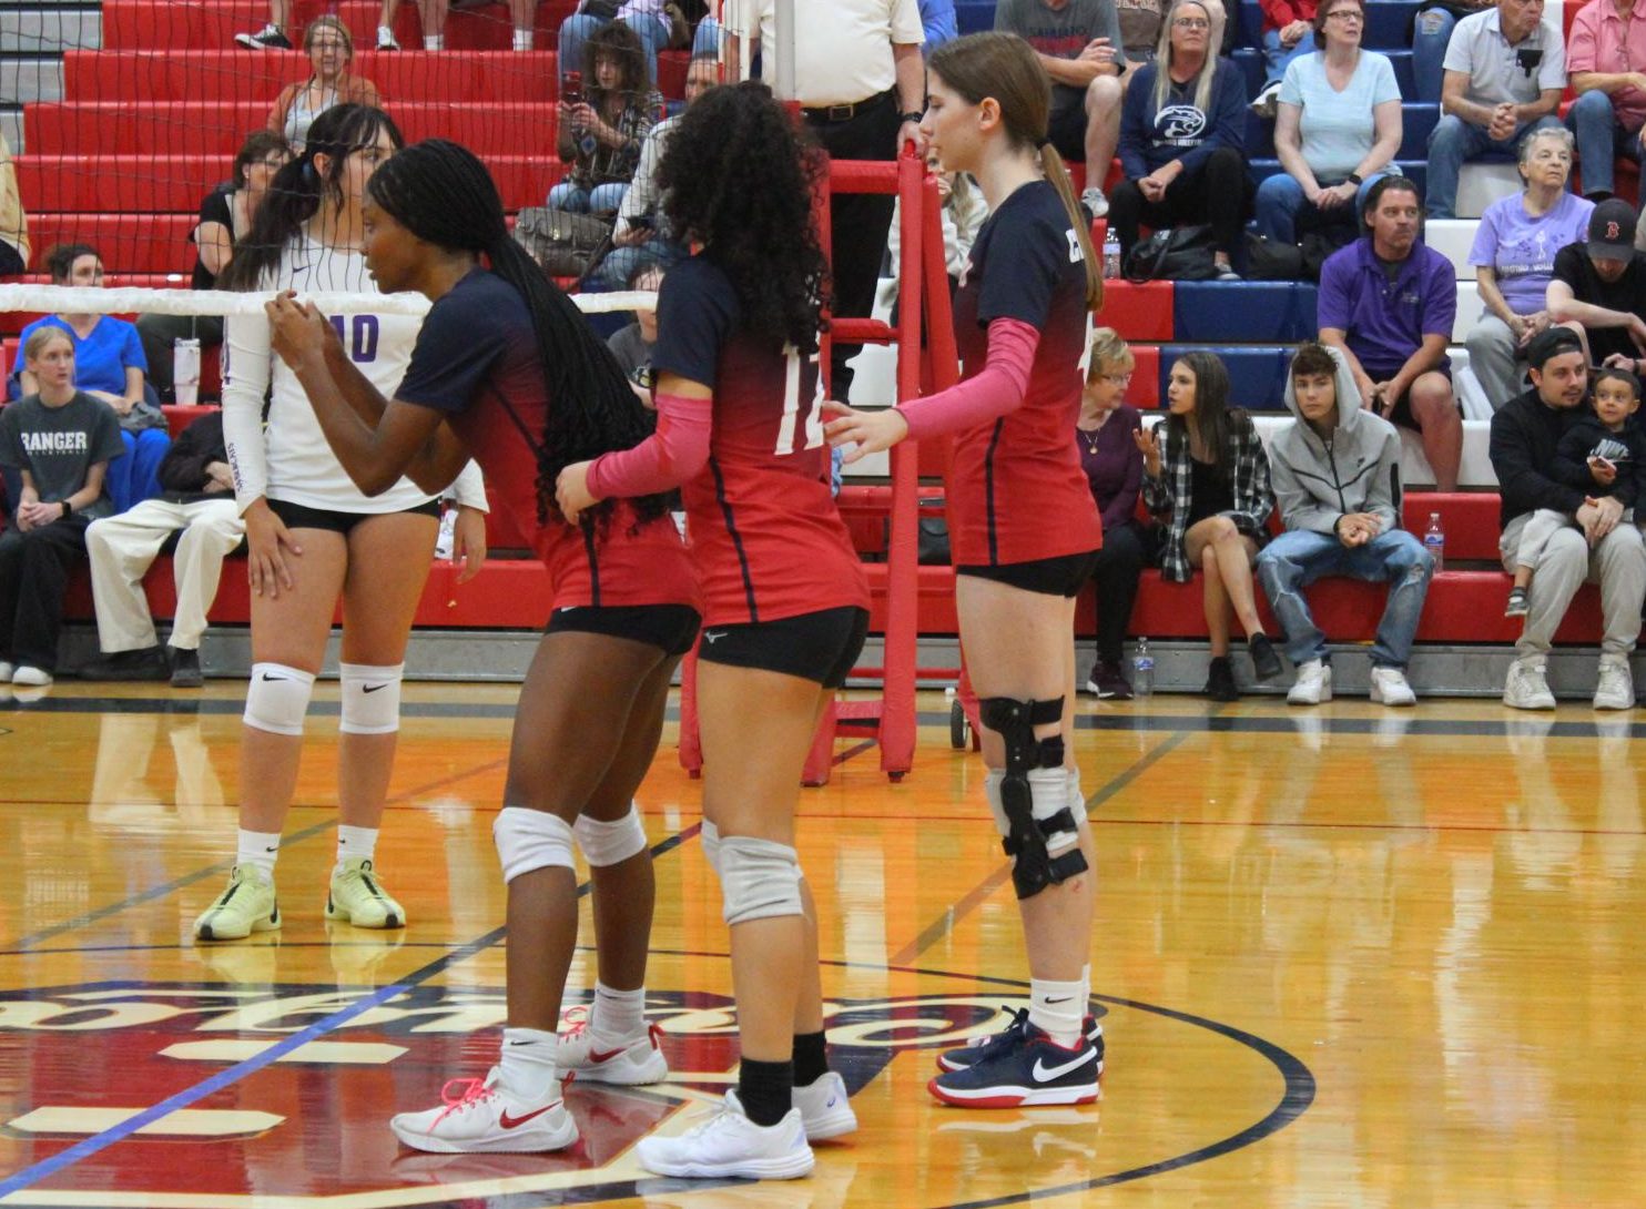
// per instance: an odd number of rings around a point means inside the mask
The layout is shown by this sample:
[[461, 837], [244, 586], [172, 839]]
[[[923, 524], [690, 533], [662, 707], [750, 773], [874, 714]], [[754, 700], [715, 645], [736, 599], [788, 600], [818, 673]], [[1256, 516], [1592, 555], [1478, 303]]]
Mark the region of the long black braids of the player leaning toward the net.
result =
[[[650, 436], [655, 419], [640, 406], [611, 349], [583, 313], [530, 253], [509, 235], [504, 204], [486, 164], [444, 138], [430, 138], [385, 160], [365, 191], [395, 222], [439, 248], [484, 253], [497, 276], [512, 285], [532, 314], [538, 362], [550, 408], [537, 447], [537, 513], [540, 523], [563, 520], [555, 480], [573, 464]], [[502, 400], [509, 406], [509, 400]], [[604, 526], [614, 500], [586, 510], [583, 526]], [[667, 495], [632, 502], [639, 523], [668, 512]]]

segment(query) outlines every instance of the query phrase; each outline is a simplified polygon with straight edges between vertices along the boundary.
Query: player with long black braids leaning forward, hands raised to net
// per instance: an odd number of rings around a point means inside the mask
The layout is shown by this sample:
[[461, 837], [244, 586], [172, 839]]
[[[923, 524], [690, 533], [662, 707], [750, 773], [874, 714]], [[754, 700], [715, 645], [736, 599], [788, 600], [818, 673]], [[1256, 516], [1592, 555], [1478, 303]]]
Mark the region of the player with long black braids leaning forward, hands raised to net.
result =
[[[632, 794], [650, 768], [670, 678], [700, 594], [667, 500], [644, 493], [568, 523], [550, 498], [568, 462], [650, 429], [617, 362], [509, 237], [497, 189], [464, 148], [431, 140], [367, 183], [365, 263], [384, 293], [433, 301], [392, 401], [372, 391], [311, 306], [270, 303], [275, 347], [308, 390], [337, 461], [367, 493], [402, 474], [441, 479], [472, 452], [527, 526], [555, 612], [520, 691], [504, 809], [492, 829], [509, 883], [509, 1025], [486, 1079], [400, 1114], [431, 1151], [560, 1150], [560, 1099], [579, 1079], [657, 1082], [644, 1020], [653, 882]], [[482, 266], [486, 257], [489, 268]], [[578, 933], [573, 844], [594, 872], [599, 982], [588, 1028], [556, 1036]]]

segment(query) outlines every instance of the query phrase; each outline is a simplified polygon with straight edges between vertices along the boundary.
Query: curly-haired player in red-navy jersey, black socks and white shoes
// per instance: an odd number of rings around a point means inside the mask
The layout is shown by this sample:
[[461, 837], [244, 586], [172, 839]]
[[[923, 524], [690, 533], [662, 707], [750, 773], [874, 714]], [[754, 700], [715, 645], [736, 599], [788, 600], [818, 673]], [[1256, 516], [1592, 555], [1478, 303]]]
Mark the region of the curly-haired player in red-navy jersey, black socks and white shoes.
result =
[[558, 498], [574, 515], [677, 484], [685, 497], [704, 594], [703, 834], [731, 926], [742, 1061], [721, 1112], [637, 1155], [658, 1174], [792, 1178], [811, 1171], [808, 1140], [856, 1128], [825, 1061], [793, 814], [818, 717], [863, 648], [869, 592], [828, 487], [825, 262], [793, 125], [759, 84], [713, 89], [680, 120], [660, 184], [670, 225], [703, 247], [658, 296], [657, 433], [566, 467]]

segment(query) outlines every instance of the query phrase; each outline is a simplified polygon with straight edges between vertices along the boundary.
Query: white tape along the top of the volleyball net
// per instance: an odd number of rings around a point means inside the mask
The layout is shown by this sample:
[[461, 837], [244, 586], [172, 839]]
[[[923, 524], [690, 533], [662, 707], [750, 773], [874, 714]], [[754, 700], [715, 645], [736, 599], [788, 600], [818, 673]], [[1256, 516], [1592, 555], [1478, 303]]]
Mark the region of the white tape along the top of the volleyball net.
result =
[[[94, 290], [86, 286], [0, 286], [0, 311], [41, 314], [262, 314], [272, 293], [227, 290]], [[428, 314], [423, 294], [300, 294], [326, 314]], [[657, 294], [624, 290], [609, 294], [571, 294], [584, 314], [653, 311]]]

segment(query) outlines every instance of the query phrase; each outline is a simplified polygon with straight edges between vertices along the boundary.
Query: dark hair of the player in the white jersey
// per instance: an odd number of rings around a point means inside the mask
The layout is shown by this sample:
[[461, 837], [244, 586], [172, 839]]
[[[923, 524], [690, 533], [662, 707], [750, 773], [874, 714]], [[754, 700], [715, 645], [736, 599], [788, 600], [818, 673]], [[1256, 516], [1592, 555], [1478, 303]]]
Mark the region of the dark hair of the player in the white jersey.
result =
[[[258, 290], [263, 278], [280, 268], [280, 253], [314, 217], [323, 201], [342, 212], [342, 169], [351, 151], [377, 145], [380, 133], [388, 133], [395, 150], [405, 146], [400, 127], [384, 110], [374, 105], [332, 105], [314, 118], [309, 127], [303, 155], [288, 160], [268, 183], [252, 229], [234, 243], [234, 257], [222, 270], [222, 290]], [[314, 166], [314, 156], [328, 156], [326, 171]]]

